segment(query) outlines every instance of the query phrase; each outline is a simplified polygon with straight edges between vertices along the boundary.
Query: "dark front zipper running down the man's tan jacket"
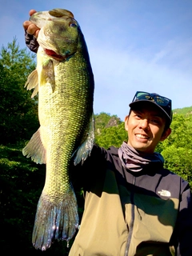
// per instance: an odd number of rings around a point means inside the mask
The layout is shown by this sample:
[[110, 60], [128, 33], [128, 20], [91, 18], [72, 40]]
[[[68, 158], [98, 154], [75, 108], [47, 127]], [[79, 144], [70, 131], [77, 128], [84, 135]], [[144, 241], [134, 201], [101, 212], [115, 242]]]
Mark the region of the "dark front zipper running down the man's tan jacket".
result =
[[[135, 185], [135, 181], [136, 181], [136, 177], [134, 176], [133, 185]], [[134, 229], [134, 190], [132, 190], [130, 193], [130, 203], [131, 203], [131, 222], [130, 222], [130, 231], [129, 231], [127, 242], [126, 242], [125, 256], [128, 256], [129, 254], [130, 241], [131, 241], [133, 229]]]

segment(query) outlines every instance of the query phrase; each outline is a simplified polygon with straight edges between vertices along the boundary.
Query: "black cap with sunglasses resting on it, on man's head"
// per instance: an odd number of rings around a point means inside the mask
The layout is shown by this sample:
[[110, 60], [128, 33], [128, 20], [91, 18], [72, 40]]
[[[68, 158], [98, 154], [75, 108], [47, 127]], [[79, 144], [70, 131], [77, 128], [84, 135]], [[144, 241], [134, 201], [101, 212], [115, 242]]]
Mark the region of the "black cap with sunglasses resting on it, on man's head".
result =
[[142, 91], [137, 91], [134, 95], [133, 101], [130, 103], [130, 108], [138, 105], [141, 102], [150, 102], [151, 104], [158, 106], [158, 109], [162, 110], [166, 114], [166, 118], [169, 121], [169, 125], [172, 121], [173, 112], [171, 109], [171, 100], [159, 94], [150, 94]]

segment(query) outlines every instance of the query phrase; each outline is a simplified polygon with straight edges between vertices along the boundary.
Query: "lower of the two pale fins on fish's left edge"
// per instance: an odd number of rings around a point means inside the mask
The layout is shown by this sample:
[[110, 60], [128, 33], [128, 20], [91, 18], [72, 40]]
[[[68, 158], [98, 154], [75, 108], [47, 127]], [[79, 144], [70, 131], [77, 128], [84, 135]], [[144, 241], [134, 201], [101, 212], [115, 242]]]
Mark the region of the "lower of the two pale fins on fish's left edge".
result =
[[40, 137], [40, 128], [30, 138], [30, 142], [22, 150], [22, 154], [26, 158], [30, 158], [36, 163], [46, 163], [46, 149], [42, 145]]

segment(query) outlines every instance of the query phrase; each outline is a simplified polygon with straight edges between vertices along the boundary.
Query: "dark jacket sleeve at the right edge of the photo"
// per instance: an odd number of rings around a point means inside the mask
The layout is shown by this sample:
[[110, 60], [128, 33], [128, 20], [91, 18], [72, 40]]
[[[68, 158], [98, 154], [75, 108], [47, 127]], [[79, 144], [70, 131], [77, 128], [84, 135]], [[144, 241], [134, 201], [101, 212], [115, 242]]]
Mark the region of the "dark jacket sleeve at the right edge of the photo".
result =
[[178, 213], [177, 237], [178, 246], [175, 248], [175, 256], [191, 255], [191, 238], [192, 238], [192, 202], [190, 186], [187, 182], [182, 181], [181, 201]]

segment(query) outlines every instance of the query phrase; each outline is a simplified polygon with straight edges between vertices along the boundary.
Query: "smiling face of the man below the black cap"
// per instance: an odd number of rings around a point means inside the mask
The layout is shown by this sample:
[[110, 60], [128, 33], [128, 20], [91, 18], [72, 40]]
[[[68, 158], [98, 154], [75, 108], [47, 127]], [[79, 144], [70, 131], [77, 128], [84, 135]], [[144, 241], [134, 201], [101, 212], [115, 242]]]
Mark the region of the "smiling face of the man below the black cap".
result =
[[125, 127], [128, 132], [129, 146], [145, 153], [154, 153], [158, 142], [170, 135], [170, 128], [165, 130], [166, 118], [158, 107], [145, 105], [131, 110], [126, 116]]

